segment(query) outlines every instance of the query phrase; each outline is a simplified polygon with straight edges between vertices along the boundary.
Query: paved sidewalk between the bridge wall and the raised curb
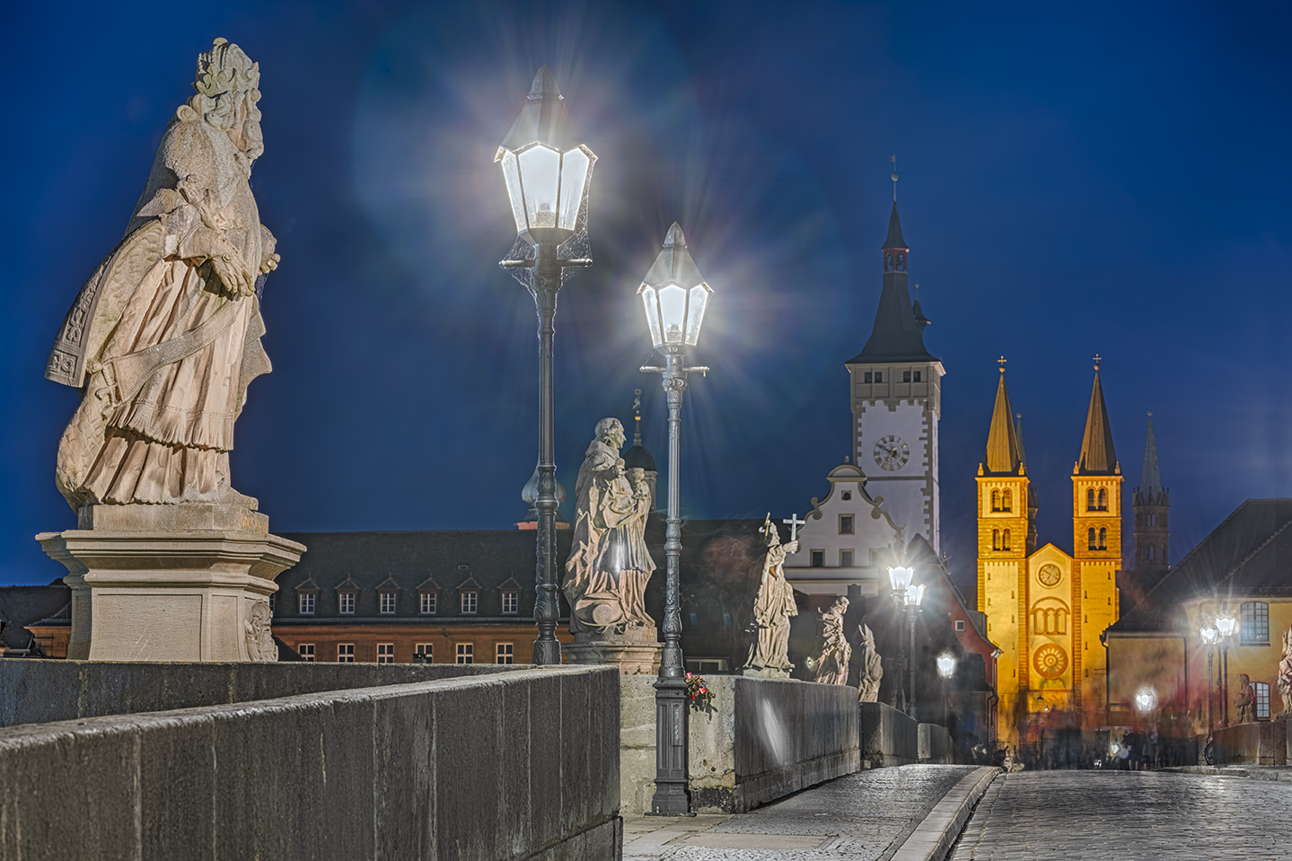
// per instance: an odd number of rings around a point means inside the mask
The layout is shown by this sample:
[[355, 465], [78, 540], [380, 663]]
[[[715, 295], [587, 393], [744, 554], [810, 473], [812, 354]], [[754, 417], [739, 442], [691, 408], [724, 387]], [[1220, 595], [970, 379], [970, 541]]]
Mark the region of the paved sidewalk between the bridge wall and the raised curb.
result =
[[[840, 777], [749, 813], [625, 822], [624, 861], [888, 861], [972, 765], [903, 765]], [[703, 829], [703, 830], [700, 830]], [[677, 836], [669, 836], [674, 833]], [[664, 838], [668, 838], [667, 840]]]

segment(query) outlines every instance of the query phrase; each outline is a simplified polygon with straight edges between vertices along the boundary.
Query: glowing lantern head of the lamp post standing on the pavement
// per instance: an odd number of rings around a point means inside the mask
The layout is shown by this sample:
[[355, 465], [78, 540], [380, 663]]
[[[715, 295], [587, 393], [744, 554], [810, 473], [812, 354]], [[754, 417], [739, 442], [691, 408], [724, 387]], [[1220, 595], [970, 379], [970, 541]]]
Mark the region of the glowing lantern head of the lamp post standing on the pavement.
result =
[[637, 295], [646, 308], [646, 323], [656, 350], [690, 353], [695, 349], [713, 290], [704, 283], [676, 221]]

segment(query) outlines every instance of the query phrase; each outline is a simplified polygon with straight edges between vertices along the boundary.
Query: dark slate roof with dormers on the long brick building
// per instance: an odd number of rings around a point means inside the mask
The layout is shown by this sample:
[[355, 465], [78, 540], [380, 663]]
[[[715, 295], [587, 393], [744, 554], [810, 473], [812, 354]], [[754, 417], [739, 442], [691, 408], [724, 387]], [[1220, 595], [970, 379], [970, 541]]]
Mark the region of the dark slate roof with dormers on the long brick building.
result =
[[[276, 583], [284, 600], [275, 602], [274, 623], [426, 622], [528, 618], [534, 614], [535, 531], [522, 529], [420, 530], [355, 533], [283, 533], [305, 544], [301, 561]], [[557, 531], [557, 574], [565, 573], [570, 530]], [[465, 566], [465, 568], [460, 568]], [[434, 615], [421, 615], [419, 591], [459, 590], [464, 580], [479, 586], [478, 613], [461, 615], [457, 601], [439, 601]], [[301, 615], [295, 595], [306, 580], [318, 584], [314, 615]], [[337, 611], [336, 590], [349, 580], [358, 588], [354, 614]], [[519, 609], [503, 615], [500, 587], [519, 584]], [[349, 586], [349, 583], [348, 583]], [[398, 587], [394, 614], [382, 614], [379, 593]], [[562, 615], [567, 615], [562, 602]]]

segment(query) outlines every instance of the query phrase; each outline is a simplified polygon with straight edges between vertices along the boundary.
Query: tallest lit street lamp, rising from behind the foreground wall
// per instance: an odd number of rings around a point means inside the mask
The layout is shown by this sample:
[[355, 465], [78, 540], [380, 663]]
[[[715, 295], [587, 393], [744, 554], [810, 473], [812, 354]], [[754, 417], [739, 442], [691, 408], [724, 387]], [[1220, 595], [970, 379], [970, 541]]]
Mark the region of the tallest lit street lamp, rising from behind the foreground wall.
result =
[[547, 66], [534, 76], [521, 115], [512, 124], [495, 162], [503, 165], [518, 239], [532, 257], [504, 260], [504, 269], [528, 269], [530, 292], [539, 315], [539, 512], [534, 663], [561, 663], [556, 637], [561, 604], [557, 593], [557, 467], [552, 429], [552, 341], [557, 291], [566, 266], [589, 266], [588, 259], [562, 260], [558, 247], [585, 229], [588, 187], [597, 156], [583, 144]]

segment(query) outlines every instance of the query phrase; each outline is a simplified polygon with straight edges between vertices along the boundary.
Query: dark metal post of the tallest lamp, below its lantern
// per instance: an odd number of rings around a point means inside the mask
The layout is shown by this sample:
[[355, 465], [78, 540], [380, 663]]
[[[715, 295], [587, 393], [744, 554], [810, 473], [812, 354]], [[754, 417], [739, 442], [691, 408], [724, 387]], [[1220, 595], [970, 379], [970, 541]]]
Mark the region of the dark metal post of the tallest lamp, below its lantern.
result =
[[539, 315], [539, 498], [534, 507], [539, 512], [537, 570], [535, 571], [537, 596], [534, 602], [534, 622], [539, 639], [534, 641], [534, 663], [561, 663], [561, 643], [557, 641], [557, 621], [561, 618], [561, 599], [557, 593], [557, 465], [554, 409], [552, 402], [552, 353], [556, 335], [557, 292], [561, 290], [561, 262], [557, 243], [540, 242], [534, 247], [534, 306]]

